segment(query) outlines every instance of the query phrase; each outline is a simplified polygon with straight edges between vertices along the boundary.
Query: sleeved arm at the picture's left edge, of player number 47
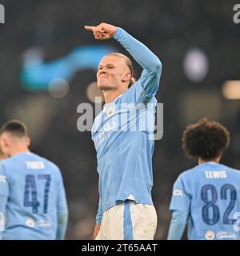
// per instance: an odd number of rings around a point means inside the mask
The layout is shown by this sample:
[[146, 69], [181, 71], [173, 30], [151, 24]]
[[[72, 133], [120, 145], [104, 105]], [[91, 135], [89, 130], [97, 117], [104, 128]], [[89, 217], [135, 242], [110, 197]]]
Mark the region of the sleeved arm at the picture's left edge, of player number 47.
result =
[[6, 178], [5, 167], [0, 164], [0, 240], [5, 230], [6, 202], [9, 196], [9, 184]]

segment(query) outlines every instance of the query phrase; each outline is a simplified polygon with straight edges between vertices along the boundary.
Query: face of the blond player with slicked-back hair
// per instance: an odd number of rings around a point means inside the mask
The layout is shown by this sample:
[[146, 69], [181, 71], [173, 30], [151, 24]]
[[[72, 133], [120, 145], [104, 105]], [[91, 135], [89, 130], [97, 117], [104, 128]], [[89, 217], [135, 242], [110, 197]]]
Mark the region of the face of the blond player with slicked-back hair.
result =
[[98, 88], [100, 90], [120, 89], [122, 86], [126, 86], [130, 76], [130, 68], [126, 65], [124, 58], [112, 55], [106, 56], [102, 58], [98, 65]]

